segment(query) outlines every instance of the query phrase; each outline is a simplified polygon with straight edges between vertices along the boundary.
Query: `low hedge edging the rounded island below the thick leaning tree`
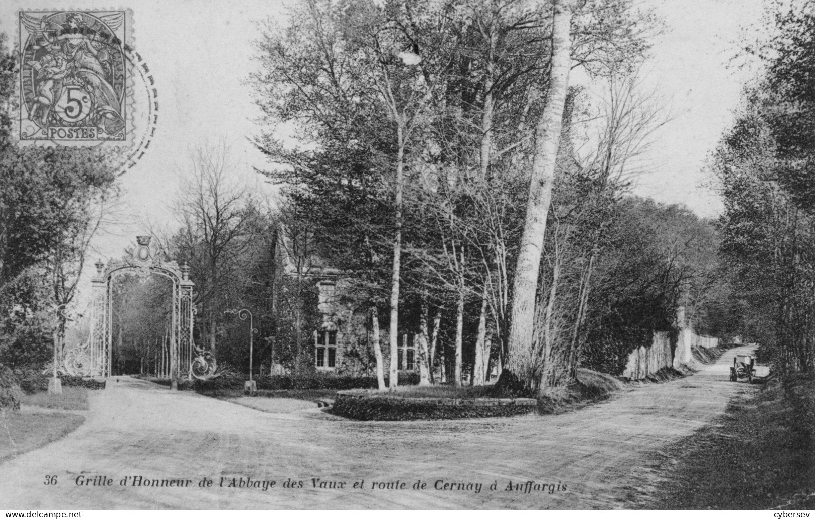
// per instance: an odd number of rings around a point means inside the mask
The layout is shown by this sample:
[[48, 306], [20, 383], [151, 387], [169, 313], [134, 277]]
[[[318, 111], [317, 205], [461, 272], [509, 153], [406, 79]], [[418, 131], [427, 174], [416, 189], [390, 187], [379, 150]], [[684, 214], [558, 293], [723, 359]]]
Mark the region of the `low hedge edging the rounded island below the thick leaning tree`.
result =
[[535, 411], [535, 405], [451, 405], [450, 402], [443, 402], [441, 398], [337, 394], [329, 412], [353, 420], [407, 421], [513, 416], [531, 411]]

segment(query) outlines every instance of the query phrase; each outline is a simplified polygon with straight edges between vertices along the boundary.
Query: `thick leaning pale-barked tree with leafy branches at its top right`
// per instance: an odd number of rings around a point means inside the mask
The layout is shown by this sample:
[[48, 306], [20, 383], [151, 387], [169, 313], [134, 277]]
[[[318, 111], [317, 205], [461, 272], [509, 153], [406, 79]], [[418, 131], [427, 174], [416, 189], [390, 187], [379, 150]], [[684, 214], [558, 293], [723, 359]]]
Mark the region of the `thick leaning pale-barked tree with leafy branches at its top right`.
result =
[[[540, 260], [561, 141], [562, 118], [571, 68], [583, 65], [591, 74], [630, 71], [647, 49], [652, 15], [639, 15], [630, 2], [553, 0], [552, 46], [544, 110], [535, 126], [528, 198], [515, 264], [511, 325], [507, 345], [507, 381], [516, 379], [527, 391], [540, 385], [535, 361], [535, 301]], [[640, 29], [637, 29], [640, 24]], [[644, 29], [643, 29], [644, 28]]]

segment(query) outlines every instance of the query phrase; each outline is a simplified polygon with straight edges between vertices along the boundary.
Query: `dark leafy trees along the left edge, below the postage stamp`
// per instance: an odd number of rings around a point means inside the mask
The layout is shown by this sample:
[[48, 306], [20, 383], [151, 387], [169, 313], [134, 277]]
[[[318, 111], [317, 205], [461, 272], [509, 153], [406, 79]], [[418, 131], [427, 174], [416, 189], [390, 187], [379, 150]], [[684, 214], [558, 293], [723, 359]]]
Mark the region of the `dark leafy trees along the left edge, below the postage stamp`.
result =
[[90, 238], [117, 195], [112, 156], [94, 148], [24, 147], [12, 134], [15, 52], [0, 34], [0, 362], [49, 358], [59, 347]]

